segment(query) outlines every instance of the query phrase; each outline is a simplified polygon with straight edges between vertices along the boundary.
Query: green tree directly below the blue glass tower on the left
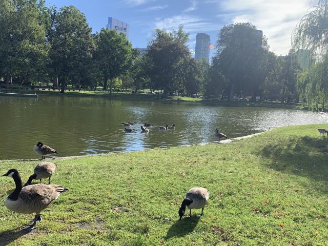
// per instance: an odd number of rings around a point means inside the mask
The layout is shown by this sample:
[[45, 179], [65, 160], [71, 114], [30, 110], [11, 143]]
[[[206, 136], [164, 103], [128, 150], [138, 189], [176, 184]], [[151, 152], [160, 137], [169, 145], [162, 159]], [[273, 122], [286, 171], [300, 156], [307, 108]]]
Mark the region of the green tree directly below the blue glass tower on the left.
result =
[[113, 79], [129, 70], [132, 63], [132, 45], [124, 34], [115, 30], [101, 29], [97, 37], [98, 48], [96, 60], [104, 76], [104, 90], [110, 79], [110, 94], [112, 94]]

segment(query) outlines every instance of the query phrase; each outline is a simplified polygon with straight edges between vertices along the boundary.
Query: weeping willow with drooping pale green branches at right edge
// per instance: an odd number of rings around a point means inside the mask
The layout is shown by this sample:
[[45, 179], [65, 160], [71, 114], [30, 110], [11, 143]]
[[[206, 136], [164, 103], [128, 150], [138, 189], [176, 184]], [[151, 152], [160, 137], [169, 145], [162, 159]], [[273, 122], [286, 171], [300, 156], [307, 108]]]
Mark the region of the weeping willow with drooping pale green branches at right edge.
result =
[[298, 72], [297, 90], [310, 108], [324, 110], [328, 103], [328, 0], [319, 0], [302, 17], [292, 33], [292, 45], [309, 52], [308, 66]]

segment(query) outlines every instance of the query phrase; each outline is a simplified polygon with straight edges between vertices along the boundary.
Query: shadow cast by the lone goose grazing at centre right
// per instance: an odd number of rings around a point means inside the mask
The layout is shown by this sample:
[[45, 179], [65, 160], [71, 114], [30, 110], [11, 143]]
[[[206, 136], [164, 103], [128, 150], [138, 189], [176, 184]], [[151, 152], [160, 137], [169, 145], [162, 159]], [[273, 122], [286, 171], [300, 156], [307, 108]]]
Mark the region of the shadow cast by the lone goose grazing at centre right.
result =
[[177, 220], [169, 229], [166, 235], [166, 239], [172, 237], [183, 237], [188, 233], [191, 233], [200, 219], [200, 216], [192, 215], [191, 217], [183, 217], [181, 221]]

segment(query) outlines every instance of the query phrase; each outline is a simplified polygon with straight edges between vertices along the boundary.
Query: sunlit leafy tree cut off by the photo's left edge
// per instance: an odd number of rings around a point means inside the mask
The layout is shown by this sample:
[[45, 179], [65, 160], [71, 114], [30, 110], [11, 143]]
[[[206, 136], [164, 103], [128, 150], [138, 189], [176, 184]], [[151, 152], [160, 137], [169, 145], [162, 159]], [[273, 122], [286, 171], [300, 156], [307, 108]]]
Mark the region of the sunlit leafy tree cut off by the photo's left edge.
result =
[[42, 73], [48, 56], [45, 27], [39, 8], [42, 1], [0, 1], [0, 75], [6, 85], [12, 75], [31, 80]]

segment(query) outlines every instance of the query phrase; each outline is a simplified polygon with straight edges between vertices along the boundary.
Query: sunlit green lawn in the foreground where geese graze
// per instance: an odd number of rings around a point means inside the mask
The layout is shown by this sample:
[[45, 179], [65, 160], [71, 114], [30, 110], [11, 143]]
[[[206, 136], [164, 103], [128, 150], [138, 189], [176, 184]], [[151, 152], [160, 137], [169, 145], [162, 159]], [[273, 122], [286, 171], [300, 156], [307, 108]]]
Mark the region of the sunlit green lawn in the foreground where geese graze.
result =
[[[327, 245], [328, 137], [285, 127], [229, 145], [156, 149], [54, 160], [53, 183], [69, 192], [33, 215], [4, 206], [14, 188], [0, 177], [0, 244]], [[37, 161], [3, 161], [27, 180]], [[202, 217], [178, 221], [186, 192], [210, 190]]]

